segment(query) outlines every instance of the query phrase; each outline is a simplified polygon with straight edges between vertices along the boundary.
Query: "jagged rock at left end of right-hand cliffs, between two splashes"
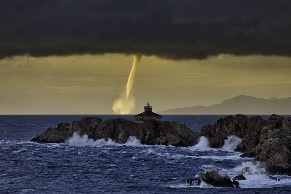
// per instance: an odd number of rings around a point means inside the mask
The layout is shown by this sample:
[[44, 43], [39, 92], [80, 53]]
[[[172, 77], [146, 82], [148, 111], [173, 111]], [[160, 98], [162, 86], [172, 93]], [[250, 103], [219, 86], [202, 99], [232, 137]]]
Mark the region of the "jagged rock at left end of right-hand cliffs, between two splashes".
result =
[[248, 118], [245, 115], [229, 115], [225, 118], [220, 118], [212, 126], [204, 125], [201, 128], [201, 135], [209, 139], [209, 145], [212, 148], [222, 147], [224, 140], [229, 135], [237, 135], [240, 138], [246, 134]]

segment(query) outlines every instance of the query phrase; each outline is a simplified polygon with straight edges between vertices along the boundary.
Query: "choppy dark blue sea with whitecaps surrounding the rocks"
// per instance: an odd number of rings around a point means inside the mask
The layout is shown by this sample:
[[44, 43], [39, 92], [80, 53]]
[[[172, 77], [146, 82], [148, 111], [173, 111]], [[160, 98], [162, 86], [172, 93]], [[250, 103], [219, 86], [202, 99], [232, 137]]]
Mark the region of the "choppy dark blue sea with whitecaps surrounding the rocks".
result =
[[[232, 151], [240, 142], [236, 136], [220, 149], [210, 148], [204, 137], [192, 147], [141, 145], [135, 137], [118, 144], [77, 134], [66, 143], [29, 142], [48, 127], [84, 116], [133, 120], [133, 115], [0, 115], [0, 193], [291, 193], [291, 177], [275, 175], [280, 181], [270, 180], [264, 164], [255, 165], [252, 158]], [[164, 115], [163, 120], [186, 123], [199, 132], [225, 116]], [[252, 173], [239, 181], [239, 188], [186, 183], [213, 169], [232, 179], [246, 166]]]

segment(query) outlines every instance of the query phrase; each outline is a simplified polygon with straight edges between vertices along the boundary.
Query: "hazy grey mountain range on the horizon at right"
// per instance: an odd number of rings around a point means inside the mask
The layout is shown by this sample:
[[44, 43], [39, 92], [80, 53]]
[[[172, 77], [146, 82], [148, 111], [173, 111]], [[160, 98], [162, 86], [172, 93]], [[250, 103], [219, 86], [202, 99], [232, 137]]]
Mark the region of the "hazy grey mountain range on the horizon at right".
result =
[[278, 99], [255, 98], [252, 96], [239, 95], [231, 99], [224, 100], [220, 104], [211, 106], [193, 106], [178, 109], [159, 111], [158, 114], [169, 115], [264, 115], [264, 114], [291, 114], [291, 97]]

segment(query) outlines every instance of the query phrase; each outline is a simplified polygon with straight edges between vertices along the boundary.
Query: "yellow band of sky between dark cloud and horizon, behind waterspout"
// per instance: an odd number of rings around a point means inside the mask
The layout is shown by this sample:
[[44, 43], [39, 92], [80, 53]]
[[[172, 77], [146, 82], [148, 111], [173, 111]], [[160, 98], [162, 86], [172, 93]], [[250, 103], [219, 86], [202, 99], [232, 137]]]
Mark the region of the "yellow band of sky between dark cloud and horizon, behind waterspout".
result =
[[[0, 60], [0, 114], [113, 114], [133, 56], [119, 54]], [[291, 96], [291, 58], [219, 55], [171, 61], [142, 56], [132, 89], [153, 111], [218, 104], [237, 95]]]

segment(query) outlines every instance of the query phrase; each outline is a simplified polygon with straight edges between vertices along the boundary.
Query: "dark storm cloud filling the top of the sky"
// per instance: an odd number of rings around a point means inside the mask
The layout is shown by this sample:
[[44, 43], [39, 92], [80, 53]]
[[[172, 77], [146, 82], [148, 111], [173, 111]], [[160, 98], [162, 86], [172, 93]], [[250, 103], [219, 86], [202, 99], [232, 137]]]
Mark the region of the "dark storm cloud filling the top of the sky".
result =
[[0, 58], [125, 53], [169, 59], [291, 55], [291, 1], [9, 0]]

